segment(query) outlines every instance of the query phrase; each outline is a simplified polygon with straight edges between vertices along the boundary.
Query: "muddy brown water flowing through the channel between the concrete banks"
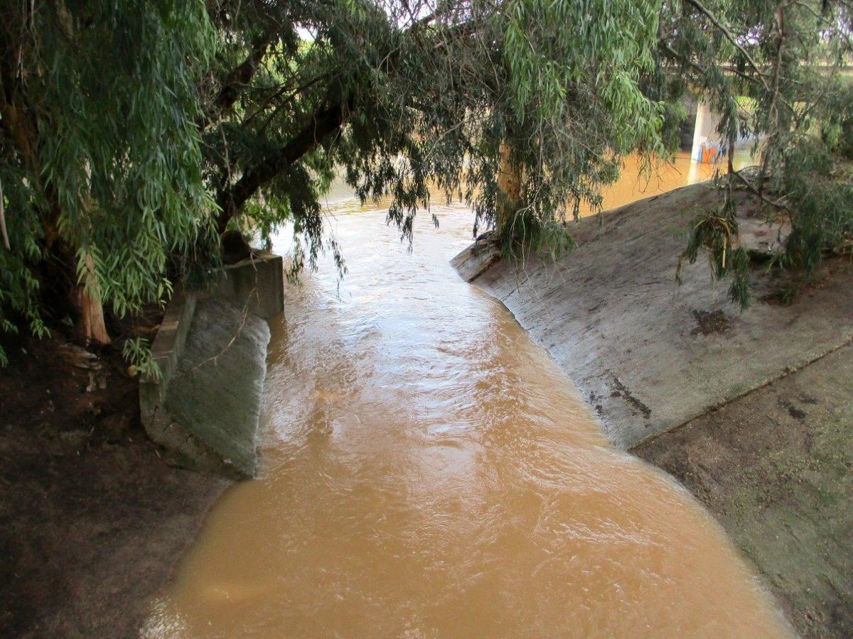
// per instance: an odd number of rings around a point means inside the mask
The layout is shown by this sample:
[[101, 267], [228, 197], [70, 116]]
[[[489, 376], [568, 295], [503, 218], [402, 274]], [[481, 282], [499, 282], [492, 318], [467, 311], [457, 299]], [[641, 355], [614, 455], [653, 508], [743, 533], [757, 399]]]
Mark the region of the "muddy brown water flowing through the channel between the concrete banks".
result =
[[470, 212], [421, 216], [409, 254], [381, 205], [332, 200], [349, 273], [271, 322], [262, 476], [145, 636], [788, 636], [717, 523], [450, 268]]

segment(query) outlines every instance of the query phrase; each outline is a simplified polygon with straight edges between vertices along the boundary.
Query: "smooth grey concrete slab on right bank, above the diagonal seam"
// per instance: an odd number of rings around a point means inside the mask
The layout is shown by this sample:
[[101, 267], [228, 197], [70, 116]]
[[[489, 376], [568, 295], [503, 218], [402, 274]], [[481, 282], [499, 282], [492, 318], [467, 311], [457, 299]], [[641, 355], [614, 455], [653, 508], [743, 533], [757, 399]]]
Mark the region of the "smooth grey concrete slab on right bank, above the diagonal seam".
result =
[[706, 182], [584, 219], [573, 228], [577, 249], [556, 265], [517, 268], [488, 250], [463, 251], [455, 264], [507, 305], [577, 383], [613, 444], [629, 448], [853, 337], [850, 273], [791, 306], [762, 301], [774, 283], [759, 273], [743, 314], [704, 258], [685, 265], [676, 286], [686, 229], [719, 197]]

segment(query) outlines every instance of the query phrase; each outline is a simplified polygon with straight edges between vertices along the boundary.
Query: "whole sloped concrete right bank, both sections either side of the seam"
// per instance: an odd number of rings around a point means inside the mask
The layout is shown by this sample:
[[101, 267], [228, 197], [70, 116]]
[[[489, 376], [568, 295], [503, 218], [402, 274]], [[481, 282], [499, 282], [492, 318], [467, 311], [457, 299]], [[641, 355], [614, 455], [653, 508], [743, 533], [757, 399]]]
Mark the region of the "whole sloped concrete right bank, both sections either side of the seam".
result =
[[557, 264], [476, 245], [454, 264], [548, 349], [615, 446], [717, 515], [799, 632], [851, 636], [853, 272], [827, 264], [790, 306], [756, 272], [744, 313], [704, 259], [676, 286], [689, 224], [720, 197], [705, 183], [585, 219]]

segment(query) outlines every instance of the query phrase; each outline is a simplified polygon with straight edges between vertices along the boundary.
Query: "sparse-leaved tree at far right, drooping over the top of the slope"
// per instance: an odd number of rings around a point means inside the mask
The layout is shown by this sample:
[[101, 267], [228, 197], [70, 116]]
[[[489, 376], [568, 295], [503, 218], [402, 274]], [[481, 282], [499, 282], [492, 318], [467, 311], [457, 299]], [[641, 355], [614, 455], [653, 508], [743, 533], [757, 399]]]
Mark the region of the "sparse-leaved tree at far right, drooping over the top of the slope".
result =
[[[757, 181], [736, 177], [728, 189], [750, 188], [769, 216], [790, 220], [780, 265], [809, 272], [827, 252], [849, 251], [853, 3], [667, 0], [659, 28], [660, 72], [671, 92], [689, 84], [721, 113], [729, 170], [739, 135], [761, 141]], [[746, 306], [749, 256], [736, 232], [727, 198], [697, 221], [685, 256], [710, 250], [717, 275], [734, 275], [730, 296]]]

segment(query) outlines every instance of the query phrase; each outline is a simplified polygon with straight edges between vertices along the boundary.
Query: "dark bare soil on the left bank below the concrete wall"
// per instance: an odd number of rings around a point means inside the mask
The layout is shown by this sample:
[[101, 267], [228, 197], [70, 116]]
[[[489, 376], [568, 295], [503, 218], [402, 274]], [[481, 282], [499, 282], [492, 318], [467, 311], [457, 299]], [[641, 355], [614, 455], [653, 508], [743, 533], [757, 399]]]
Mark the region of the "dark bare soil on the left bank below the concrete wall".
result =
[[166, 463], [115, 348], [4, 346], [0, 636], [136, 636], [228, 482]]

